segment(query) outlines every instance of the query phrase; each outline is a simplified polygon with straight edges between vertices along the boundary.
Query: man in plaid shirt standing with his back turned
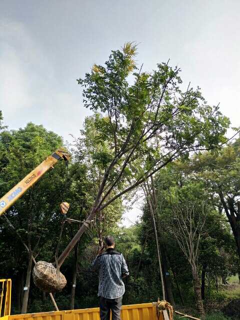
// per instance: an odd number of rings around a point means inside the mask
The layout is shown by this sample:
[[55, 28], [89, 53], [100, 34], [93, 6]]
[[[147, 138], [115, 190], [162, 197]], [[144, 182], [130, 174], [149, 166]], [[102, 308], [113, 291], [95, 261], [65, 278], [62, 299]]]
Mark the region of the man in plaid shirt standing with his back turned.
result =
[[[98, 302], [100, 319], [120, 320], [121, 299], [125, 292], [122, 278], [129, 274], [126, 262], [121, 253], [114, 250], [113, 236], [105, 237], [105, 245], [99, 248], [96, 258], [91, 262], [91, 270], [99, 269]], [[102, 253], [105, 247], [105, 252]]]

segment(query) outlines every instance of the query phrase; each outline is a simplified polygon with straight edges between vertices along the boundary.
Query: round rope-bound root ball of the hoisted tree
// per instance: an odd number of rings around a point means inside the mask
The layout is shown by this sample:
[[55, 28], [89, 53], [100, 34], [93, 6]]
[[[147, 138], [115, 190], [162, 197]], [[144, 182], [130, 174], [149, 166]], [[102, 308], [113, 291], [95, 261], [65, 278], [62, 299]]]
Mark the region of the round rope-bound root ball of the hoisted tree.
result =
[[38, 261], [32, 271], [35, 285], [45, 292], [61, 290], [66, 285], [66, 278], [51, 263]]

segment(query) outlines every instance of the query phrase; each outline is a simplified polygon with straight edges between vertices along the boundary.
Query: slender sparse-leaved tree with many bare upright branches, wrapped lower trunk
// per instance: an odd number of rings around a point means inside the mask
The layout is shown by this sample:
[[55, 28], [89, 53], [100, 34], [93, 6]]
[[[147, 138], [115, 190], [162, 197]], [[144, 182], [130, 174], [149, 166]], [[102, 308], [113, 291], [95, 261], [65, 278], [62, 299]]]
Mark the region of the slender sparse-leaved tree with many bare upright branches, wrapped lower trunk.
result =
[[[190, 182], [190, 181], [189, 181]], [[188, 183], [189, 183], [188, 182]], [[190, 182], [171, 194], [172, 211], [168, 219], [168, 231], [179, 244], [191, 266], [196, 297], [196, 307], [203, 314], [203, 305], [198, 277], [199, 241], [204, 230], [207, 214], [212, 208], [207, 203], [201, 185]]]

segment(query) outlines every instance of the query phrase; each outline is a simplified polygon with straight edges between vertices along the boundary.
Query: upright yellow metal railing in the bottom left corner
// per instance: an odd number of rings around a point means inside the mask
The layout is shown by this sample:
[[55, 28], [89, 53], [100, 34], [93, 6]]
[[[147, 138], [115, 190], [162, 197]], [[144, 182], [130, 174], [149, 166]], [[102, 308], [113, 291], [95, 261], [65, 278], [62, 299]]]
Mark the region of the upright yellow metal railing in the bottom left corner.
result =
[[10, 315], [10, 309], [11, 279], [0, 279], [0, 316]]

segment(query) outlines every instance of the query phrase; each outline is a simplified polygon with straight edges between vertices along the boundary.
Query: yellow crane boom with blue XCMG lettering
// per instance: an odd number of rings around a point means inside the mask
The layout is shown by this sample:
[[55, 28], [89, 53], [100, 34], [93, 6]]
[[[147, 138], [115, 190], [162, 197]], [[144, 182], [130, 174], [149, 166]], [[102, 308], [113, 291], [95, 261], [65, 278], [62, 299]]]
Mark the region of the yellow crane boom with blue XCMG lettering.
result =
[[59, 159], [68, 161], [70, 156], [65, 150], [59, 148], [42, 161], [29, 174], [27, 174], [5, 195], [3, 195], [0, 198], [0, 215], [2, 215], [17, 199], [19, 199], [44, 173], [46, 173], [50, 168], [53, 168], [53, 164], [55, 164]]

